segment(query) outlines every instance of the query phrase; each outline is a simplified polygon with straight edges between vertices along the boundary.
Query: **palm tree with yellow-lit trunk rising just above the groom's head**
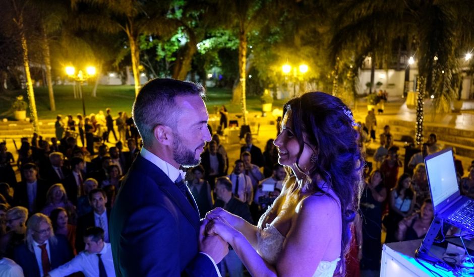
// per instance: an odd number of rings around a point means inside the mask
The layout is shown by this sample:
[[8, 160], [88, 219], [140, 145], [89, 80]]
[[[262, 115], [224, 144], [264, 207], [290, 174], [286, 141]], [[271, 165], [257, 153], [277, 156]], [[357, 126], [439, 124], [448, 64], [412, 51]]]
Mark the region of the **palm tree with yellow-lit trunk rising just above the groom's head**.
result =
[[[139, 37], [142, 34], [167, 35], [175, 31], [178, 24], [176, 20], [168, 17], [174, 2], [172, 0], [72, 0], [72, 6], [78, 11], [75, 24], [78, 29], [127, 34], [132, 57], [135, 94], [138, 94], [140, 89]], [[84, 7], [80, 5], [81, 3], [90, 4], [90, 6]]]

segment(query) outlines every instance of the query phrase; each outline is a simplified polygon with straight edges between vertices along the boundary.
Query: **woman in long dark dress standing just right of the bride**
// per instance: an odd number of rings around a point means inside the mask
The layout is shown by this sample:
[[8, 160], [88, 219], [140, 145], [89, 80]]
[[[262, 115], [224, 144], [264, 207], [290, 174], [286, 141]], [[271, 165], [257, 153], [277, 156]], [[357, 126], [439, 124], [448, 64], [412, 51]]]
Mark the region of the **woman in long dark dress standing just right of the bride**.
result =
[[380, 270], [382, 253], [382, 202], [387, 198], [383, 175], [375, 170], [365, 182], [361, 195], [360, 213], [362, 217], [362, 270]]

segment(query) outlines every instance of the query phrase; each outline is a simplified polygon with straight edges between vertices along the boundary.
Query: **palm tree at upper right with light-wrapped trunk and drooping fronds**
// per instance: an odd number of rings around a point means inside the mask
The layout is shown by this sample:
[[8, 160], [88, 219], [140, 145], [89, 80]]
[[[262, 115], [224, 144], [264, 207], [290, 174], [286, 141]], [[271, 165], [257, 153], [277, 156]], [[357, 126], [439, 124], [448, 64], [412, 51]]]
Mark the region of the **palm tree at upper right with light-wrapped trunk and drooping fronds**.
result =
[[[358, 59], [395, 40], [412, 43], [419, 68], [417, 144], [423, 141], [423, 98], [430, 92], [437, 111], [449, 110], [459, 87], [459, 54], [473, 42], [474, 17], [469, 0], [347, 0], [340, 4], [331, 46], [334, 56]], [[388, 47], [387, 47], [388, 46]], [[356, 64], [360, 67], [362, 63]]]

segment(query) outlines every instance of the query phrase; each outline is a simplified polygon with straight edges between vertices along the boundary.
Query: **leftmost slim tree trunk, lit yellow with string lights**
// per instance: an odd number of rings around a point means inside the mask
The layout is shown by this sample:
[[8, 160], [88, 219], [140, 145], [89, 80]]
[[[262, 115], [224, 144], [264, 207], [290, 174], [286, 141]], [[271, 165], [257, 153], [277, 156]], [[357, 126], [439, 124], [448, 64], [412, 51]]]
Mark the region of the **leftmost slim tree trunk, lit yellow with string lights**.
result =
[[23, 50], [23, 65], [25, 66], [26, 85], [28, 91], [28, 100], [30, 102], [30, 116], [33, 121], [34, 132], [39, 132], [38, 112], [36, 111], [35, 94], [33, 91], [33, 81], [31, 80], [30, 65], [28, 60], [28, 44], [26, 41], [25, 32], [23, 30], [23, 16], [20, 16], [18, 21], [18, 28], [20, 29], [21, 48]]

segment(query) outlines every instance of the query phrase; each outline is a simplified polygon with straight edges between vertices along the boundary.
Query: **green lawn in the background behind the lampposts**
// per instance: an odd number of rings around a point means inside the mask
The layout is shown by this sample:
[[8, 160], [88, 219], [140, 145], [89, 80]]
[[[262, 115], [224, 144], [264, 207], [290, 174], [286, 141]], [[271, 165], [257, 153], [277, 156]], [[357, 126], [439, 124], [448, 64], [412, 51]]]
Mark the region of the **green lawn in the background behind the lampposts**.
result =
[[[57, 114], [82, 114], [81, 99], [74, 99], [72, 86], [54, 86], [54, 99], [56, 111], [49, 111], [49, 98], [47, 88], [35, 88], [36, 107], [39, 119], [53, 119]], [[125, 111], [131, 114], [132, 105], [135, 98], [133, 86], [99, 86], [97, 97], [91, 97], [92, 86], [84, 86], [84, 101], [86, 114], [97, 113], [99, 110], [105, 112], [105, 108], [112, 109], [112, 114], [118, 111]], [[7, 91], [0, 95], [0, 118], [13, 117], [13, 112], [9, 111], [15, 97], [18, 95], [26, 97], [26, 90]], [[214, 113], [216, 108], [225, 105], [231, 113], [239, 113], [240, 105], [231, 105], [232, 92], [230, 89], [208, 88], [207, 99], [205, 100], [209, 113]], [[275, 107], [282, 107], [283, 100], [275, 100]], [[247, 98], [247, 110], [250, 112], [261, 111], [260, 97], [251, 96]], [[29, 115], [28, 115], [29, 116]]]

